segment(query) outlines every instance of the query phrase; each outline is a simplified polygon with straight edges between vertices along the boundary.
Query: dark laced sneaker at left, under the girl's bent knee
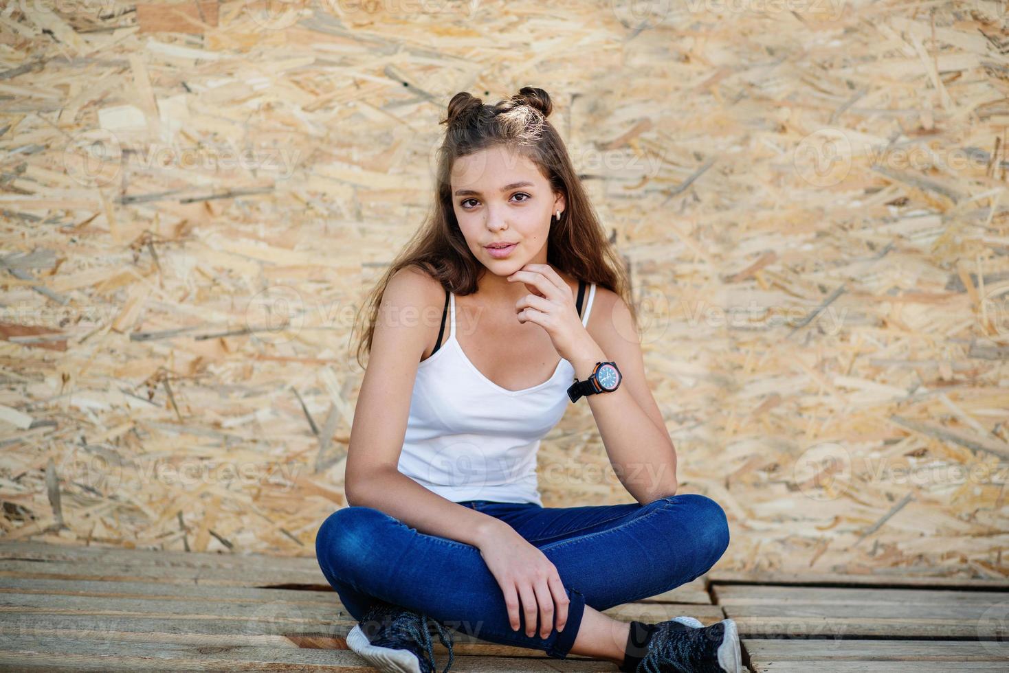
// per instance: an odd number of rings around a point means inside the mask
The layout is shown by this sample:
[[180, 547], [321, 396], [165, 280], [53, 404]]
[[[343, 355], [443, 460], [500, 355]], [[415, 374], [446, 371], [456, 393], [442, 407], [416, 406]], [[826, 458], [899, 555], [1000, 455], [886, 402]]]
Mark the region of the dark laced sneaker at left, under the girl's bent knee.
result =
[[[435, 673], [435, 654], [426, 615], [401, 605], [376, 601], [347, 634], [347, 647], [382, 673]], [[452, 636], [435, 620], [442, 645], [452, 665]]]

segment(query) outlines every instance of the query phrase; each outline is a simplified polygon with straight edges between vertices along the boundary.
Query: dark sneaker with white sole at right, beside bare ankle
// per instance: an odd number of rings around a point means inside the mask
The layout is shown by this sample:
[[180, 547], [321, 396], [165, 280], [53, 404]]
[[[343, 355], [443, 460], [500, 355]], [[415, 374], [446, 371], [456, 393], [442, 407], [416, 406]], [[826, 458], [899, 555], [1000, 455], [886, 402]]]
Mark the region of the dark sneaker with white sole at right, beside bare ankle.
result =
[[743, 657], [736, 622], [722, 620], [709, 627], [692, 629], [683, 626], [691, 625], [683, 618], [656, 625], [648, 643], [648, 654], [638, 664], [637, 673], [742, 672]]

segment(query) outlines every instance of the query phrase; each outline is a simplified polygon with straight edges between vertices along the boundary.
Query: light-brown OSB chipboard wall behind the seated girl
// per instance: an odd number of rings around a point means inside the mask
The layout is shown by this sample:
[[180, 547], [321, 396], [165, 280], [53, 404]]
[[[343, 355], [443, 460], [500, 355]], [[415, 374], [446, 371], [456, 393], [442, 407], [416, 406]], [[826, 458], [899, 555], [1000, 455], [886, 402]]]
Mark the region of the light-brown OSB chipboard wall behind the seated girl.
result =
[[[461, 90], [554, 97], [719, 567], [1001, 578], [999, 2], [5, 3], [6, 539], [311, 555]], [[547, 506], [633, 502], [586, 406]]]

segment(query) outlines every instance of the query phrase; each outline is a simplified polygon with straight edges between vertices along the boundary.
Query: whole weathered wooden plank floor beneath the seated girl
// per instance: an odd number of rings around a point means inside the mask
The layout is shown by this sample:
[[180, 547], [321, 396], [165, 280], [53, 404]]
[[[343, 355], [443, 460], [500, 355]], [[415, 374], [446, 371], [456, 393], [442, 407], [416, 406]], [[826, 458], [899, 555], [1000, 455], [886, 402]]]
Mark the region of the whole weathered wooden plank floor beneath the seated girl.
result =
[[[712, 573], [606, 611], [732, 617], [753, 673], [1009, 670], [1009, 583]], [[0, 668], [371, 671], [313, 558], [0, 542]], [[453, 671], [615, 671], [455, 635]], [[446, 651], [435, 653], [444, 667]]]

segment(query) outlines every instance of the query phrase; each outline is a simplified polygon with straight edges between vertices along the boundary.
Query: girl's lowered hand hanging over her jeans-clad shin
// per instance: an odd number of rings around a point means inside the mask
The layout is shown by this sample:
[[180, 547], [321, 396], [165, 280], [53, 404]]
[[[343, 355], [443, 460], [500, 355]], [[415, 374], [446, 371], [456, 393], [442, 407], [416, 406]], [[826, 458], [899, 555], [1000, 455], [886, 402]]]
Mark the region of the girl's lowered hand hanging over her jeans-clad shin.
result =
[[480, 555], [504, 593], [509, 622], [518, 631], [519, 608], [526, 616], [526, 635], [536, 633], [536, 615], [540, 614], [540, 637], [553, 630], [556, 607], [557, 631], [567, 624], [568, 603], [564, 583], [546, 554], [530, 544], [514, 528], [495, 526], [479, 545]]

